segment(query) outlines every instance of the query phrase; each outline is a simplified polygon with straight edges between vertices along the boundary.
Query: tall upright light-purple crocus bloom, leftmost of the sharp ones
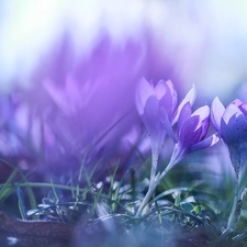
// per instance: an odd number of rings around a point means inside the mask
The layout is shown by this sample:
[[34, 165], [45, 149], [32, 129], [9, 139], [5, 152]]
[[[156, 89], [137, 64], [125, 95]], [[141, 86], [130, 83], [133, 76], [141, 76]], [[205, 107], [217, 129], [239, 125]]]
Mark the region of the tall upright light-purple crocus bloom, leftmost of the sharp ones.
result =
[[177, 92], [171, 81], [160, 80], [156, 87], [142, 78], [137, 85], [136, 109], [150, 136], [153, 169], [156, 173], [158, 156], [168, 133], [176, 142], [170, 120], [177, 108]]

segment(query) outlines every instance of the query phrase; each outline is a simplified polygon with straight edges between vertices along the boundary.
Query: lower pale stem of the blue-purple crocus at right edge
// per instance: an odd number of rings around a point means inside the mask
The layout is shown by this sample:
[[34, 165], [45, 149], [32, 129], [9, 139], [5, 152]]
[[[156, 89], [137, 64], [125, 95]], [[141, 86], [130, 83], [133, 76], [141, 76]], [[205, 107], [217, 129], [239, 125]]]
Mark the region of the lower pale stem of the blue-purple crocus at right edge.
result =
[[227, 222], [227, 229], [235, 231], [242, 213], [243, 202], [246, 195], [246, 189], [239, 188], [239, 183], [235, 184], [234, 203]]

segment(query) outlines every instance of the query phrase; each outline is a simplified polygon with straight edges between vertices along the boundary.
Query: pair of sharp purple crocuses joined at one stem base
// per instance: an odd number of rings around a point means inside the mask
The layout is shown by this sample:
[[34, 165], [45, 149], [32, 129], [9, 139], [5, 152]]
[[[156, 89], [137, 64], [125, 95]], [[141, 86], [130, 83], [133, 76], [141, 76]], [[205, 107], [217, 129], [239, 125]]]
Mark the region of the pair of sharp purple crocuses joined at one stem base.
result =
[[[178, 104], [177, 92], [171, 81], [160, 80], [155, 87], [144, 78], [136, 92], [136, 108], [149, 133], [151, 145], [151, 171], [148, 191], [138, 207], [136, 217], [150, 200], [155, 189], [166, 173], [189, 153], [214, 145], [216, 135], [205, 138], [210, 125], [210, 108], [204, 105], [192, 113], [195, 89], [187, 93]], [[177, 135], [172, 126], [177, 123]], [[158, 158], [165, 137], [169, 135], [173, 143], [173, 154], [167, 168], [157, 173]]]

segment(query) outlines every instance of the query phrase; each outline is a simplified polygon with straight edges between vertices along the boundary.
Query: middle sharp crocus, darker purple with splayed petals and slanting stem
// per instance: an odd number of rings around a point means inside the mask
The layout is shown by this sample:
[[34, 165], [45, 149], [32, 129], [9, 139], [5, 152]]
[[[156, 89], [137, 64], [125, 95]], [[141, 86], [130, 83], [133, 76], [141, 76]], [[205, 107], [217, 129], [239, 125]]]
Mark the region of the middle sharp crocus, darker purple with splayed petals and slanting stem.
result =
[[150, 199], [158, 183], [176, 164], [183, 159], [189, 153], [210, 147], [218, 142], [216, 134], [205, 138], [210, 125], [210, 108], [204, 105], [191, 113], [191, 103], [188, 99], [194, 93], [190, 91], [175, 113], [173, 123], [178, 122], [178, 142], [175, 144], [170, 162], [161, 175], [156, 176], [154, 183], [149, 187], [137, 211], [137, 216], [141, 214], [145, 203]]

